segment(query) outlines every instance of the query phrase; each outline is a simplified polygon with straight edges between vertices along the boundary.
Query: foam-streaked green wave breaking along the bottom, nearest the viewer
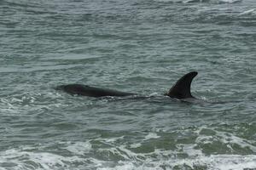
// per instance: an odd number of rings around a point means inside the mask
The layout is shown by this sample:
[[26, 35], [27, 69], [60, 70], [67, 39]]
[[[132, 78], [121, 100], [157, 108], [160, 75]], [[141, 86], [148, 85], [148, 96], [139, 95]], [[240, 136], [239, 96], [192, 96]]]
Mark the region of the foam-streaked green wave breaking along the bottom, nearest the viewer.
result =
[[[247, 139], [241, 134], [245, 135], [244, 132], [254, 126], [241, 123], [184, 127], [172, 133], [155, 129], [141, 133], [143, 138], [129, 141], [129, 137], [122, 134], [97, 135], [84, 141], [23, 144], [0, 151], [0, 167], [15, 170], [253, 169], [256, 168], [253, 137]], [[235, 132], [230, 133], [234, 128]]]

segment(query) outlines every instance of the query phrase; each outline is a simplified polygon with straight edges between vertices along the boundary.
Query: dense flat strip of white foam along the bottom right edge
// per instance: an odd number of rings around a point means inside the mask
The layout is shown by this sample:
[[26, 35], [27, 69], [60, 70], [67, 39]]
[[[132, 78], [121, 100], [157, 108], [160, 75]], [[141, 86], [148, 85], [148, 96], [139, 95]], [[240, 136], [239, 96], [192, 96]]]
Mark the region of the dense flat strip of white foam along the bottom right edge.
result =
[[[141, 163], [134, 161], [119, 161], [114, 167], [98, 167], [98, 170], [162, 170], [173, 169], [198, 169], [202, 167], [207, 170], [244, 170], [245, 168], [256, 168], [256, 156], [201, 156], [194, 159], [148, 159]], [[190, 167], [190, 168], [188, 168]]]

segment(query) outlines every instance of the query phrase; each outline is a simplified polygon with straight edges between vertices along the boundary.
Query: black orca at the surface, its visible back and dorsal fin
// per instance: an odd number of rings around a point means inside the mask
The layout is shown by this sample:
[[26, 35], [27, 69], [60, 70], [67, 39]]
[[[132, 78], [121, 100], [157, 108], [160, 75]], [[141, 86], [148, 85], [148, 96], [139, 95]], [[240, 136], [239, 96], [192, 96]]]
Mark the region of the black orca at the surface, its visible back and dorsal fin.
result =
[[[193, 78], [197, 75], [196, 71], [189, 72], [181, 77], [172, 88], [165, 94], [170, 98], [175, 99], [195, 99], [190, 92], [190, 86]], [[136, 95], [133, 93], [120, 92], [112, 89], [95, 88], [83, 84], [67, 84], [61, 85], [56, 88], [57, 90], [63, 90], [67, 94], [77, 94], [90, 97], [103, 97], [103, 96], [130, 96]]]

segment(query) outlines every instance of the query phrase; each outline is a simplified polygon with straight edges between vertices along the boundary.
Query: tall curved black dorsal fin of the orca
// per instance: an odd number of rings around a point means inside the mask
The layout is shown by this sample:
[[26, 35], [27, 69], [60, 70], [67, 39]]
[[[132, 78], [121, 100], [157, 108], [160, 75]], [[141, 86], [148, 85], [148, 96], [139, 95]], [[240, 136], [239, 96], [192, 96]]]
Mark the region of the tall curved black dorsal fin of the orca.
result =
[[171, 98], [186, 99], [194, 98], [190, 92], [190, 86], [193, 78], [197, 75], [196, 71], [189, 72], [181, 77], [174, 86], [166, 94]]

